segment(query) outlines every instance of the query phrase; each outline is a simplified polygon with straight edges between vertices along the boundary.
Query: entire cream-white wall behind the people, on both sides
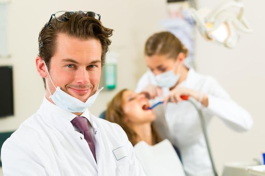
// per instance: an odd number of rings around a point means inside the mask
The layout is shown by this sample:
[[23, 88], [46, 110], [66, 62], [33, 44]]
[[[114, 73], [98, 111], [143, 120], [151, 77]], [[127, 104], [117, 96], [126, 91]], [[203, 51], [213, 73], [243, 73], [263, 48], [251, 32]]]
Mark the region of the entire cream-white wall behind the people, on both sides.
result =
[[[158, 22], [167, 17], [165, 2], [166, 0], [156, 0], [155, 3], [152, 0], [11, 1], [9, 47], [12, 57], [0, 59], [0, 65], [11, 64], [14, 67], [15, 116], [0, 119], [0, 131], [17, 129], [36, 112], [43, 99], [43, 83], [35, 69], [34, 59], [38, 52], [38, 33], [52, 13], [60, 10], [92, 10], [101, 14], [101, 21], [106, 27], [115, 29], [110, 49], [120, 55], [118, 87], [113, 92], [100, 93], [90, 110], [98, 115], [120, 89], [134, 89], [137, 79], [146, 70], [142, 54], [144, 41], [153, 32], [161, 30]], [[217, 1], [214, 3], [210, 0], [199, 2], [199, 7], [214, 7], [217, 4]], [[246, 108], [254, 119], [253, 128], [244, 134], [229, 130], [218, 119], [211, 123], [210, 140], [219, 172], [225, 162], [251, 160], [265, 151], [265, 141], [262, 140], [265, 134], [262, 100], [265, 98], [265, 24], [262, 23], [265, 12], [262, 7], [265, 2], [255, 2], [257, 1], [244, 1], [246, 17], [254, 28], [254, 33], [242, 35], [235, 49], [214, 45], [197, 35], [197, 70], [216, 77], [231, 97]]]

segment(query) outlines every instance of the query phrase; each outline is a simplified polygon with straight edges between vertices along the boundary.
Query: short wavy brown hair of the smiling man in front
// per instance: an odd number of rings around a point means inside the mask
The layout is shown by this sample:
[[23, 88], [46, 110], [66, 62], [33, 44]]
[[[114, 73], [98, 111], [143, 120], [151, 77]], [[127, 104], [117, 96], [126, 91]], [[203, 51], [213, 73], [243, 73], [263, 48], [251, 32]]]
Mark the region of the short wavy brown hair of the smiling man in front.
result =
[[[46, 24], [47, 25], [47, 24]], [[44, 26], [38, 38], [39, 54], [48, 70], [50, 58], [55, 54], [57, 48], [57, 37], [59, 33], [65, 33], [71, 37], [81, 40], [97, 39], [101, 43], [101, 66], [105, 62], [105, 54], [109, 49], [111, 40], [109, 37], [113, 35], [113, 29], [105, 28], [99, 20], [93, 17], [84, 17], [80, 13], [75, 13], [68, 21], [60, 22], [51, 19], [48, 26]], [[45, 78], [43, 78], [45, 86]]]

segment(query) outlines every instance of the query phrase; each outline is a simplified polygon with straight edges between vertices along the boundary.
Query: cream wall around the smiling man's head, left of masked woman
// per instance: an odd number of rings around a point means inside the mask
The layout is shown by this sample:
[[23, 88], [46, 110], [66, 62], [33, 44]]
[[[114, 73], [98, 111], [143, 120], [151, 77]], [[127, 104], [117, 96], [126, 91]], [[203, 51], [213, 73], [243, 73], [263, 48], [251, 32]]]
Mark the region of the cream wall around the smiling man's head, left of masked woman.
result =
[[[2, 0], [0, 0], [2, 1]], [[139, 75], [136, 64], [142, 62], [143, 42], [150, 33], [157, 29], [157, 20], [163, 18], [155, 11], [165, 2], [155, 5], [152, 1], [11, 1], [9, 13], [9, 47], [12, 57], [1, 59], [0, 64], [14, 67], [15, 116], [0, 119], [0, 130], [8, 131], [18, 126], [39, 108], [44, 89], [42, 79], [35, 68], [38, 53], [37, 38], [40, 29], [49, 20], [52, 13], [60, 10], [92, 10], [101, 14], [102, 23], [115, 30], [110, 49], [119, 53], [118, 89], [114, 92], [102, 92], [91, 112], [98, 115], [122, 87], [134, 89]], [[149, 8], [151, 5], [152, 8]], [[41, 8], [39, 8], [41, 7]], [[110, 8], [119, 7], [119, 8]], [[150, 13], [146, 13], [145, 10]], [[21, 10], [23, 9], [23, 13]], [[19, 12], [19, 15], [18, 15]], [[160, 17], [161, 16], [161, 17]], [[146, 25], [148, 22], [148, 25]], [[139, 51], [140, 50], [140, 51]], [[145, 69], [144, 62], [141, 70]], [[144, 67], [144, 68], [142, 68]], [[142, 71], [143, 72], [143, 71]], [[130, 80], [130, 81], [128, 81]]]

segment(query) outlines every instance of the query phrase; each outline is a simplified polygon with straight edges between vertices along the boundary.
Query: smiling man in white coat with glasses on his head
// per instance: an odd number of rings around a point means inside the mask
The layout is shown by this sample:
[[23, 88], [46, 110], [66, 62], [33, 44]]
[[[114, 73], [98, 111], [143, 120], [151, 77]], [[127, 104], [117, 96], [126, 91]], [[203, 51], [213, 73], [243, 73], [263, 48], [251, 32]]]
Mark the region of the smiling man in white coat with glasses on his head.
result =
[[52, 14], [36, 67], [46, 94], [2, 148], [5, 176], [145, 175], [122, 128], [89, 111], [112, 29], [93, 12]]

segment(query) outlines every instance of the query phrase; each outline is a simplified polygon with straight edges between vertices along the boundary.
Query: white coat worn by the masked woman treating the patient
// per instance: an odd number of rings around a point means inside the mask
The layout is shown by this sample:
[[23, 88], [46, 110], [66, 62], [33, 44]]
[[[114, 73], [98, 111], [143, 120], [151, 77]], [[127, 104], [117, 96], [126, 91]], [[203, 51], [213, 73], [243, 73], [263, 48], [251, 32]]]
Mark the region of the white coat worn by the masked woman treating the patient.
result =
[[[156, 85], [152, 73], [147, 71], [138, 81], [136, 92], [141, 92], [149, 83]], [[202, 106], [206, 126], [213, 116], [217, 116], [235, 131], [242, 132], [251, 128], [250, 114], [235, 103], [214, 78], [190, 68], [186, 80], [180, 86], [207, 94], [208, 107]], [[199, 116], [193, 105], [187, 101], [168, 103], [164, 105], [164, 111], [168, 129], [164, 128], [162, 132], [168, 131], [167, 137], [179, 148], [186, 174], [213, 175]]]

